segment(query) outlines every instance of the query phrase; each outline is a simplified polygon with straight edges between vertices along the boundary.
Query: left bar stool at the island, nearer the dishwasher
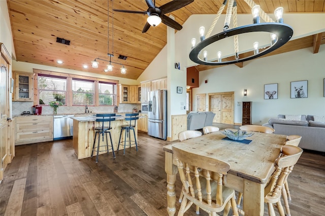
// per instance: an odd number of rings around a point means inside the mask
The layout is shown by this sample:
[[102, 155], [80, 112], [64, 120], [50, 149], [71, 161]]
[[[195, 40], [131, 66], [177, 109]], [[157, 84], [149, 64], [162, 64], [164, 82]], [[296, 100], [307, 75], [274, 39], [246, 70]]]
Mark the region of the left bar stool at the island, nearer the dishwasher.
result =
[[[95, 131], [95, 138], [93, 140], [91, 157], [92, 157], [93, 152], [96, 152], [96, 163], [98, 163], [98, 155], [99, 155], [100, 152], [106, 152], [107, 151], [107, 154], [108, 154], [109, 150], [112, 150], [113, 156], [115, 158], [113, 141], [112, 141], [112, 136], [111, 136], [111, 131], [110, 131], [110, 129], [112, 129], [111, 121], [115, 121], [115, 118], [111, 118], [111, 117], [113, 117], [115, 115], [116, 115], [115, 113], [113, 113], [113, 114], [96, 114], [96, 122], [101, 122], [102, 123], [101, 126], [93, 128], [93, 130]], [[105, 122], [109, 122], [109, 125], [104, 126]], [[110, 135], [111, 148], [108, 147], [107, 133]], [[95, 147], [97, 134], [98, 134], [98, 142], [97, 142], [98, 144], [97, 144], [97, 147]], [[104, 135], [106, 136], [106, 150], [100, 150], [101, 147], [104, 147], [104, 146], [100, 146], [101, 135], [103, 137], [103, 142], [104, 142]]]

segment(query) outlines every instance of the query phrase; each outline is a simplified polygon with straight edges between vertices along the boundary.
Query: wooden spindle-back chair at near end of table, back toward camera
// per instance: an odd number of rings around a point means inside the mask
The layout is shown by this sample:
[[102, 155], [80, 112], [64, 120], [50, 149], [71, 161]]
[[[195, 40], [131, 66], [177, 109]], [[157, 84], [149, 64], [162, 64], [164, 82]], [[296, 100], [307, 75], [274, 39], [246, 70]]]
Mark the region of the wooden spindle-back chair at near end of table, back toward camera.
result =
[[[223, 176], [230, 170], [230, 165], [175, 147], [172, 149], [184, 194], [178, 216], [184, 215], [192, 204], [208, 212], [209, 215], [217, 215], [216, 212], [222, 210], [224, 210], [223, 215], [228, 215], [230, 207], [233, 209], [233, 215], [238, 215], [235, 191], [223, 186]], [[211, 175], [215, 173], [217, 179], [212, 179]]]

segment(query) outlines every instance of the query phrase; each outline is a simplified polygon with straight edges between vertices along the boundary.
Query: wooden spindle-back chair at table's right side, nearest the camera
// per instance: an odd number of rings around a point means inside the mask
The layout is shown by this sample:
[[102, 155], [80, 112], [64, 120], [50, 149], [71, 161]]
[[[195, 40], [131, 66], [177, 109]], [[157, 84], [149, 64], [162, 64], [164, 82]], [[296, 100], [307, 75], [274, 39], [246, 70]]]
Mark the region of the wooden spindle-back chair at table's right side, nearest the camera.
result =
[[[265, 187], [264, 202], [268, 203], [269, 215], [275, 216], [273, 204], [276, 203], [280, 216], [285, 216], [281, 204], [281, 194], [283, 200], [286, 199], [286, 191], [284, 183], [287, 181], [288, 175], [293, 170], [294, 165], [303, 153], [303, 150], [296, 146], [283, 146], [281, 150], [282, 156], [275, 160], [275, 171], [272, 174], [269, 183]], [[290, 216], [289, 205], [285, 206], [286, 215]]]

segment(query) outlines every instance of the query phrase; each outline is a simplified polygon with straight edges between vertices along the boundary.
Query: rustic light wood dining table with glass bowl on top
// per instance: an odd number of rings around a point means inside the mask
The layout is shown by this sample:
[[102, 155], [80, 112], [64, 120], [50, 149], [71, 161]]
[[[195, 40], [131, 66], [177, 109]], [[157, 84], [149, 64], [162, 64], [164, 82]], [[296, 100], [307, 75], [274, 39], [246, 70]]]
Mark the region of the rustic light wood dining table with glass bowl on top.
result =
[[245, 215], [264, 215], [264, 188], [274, 171], [275, 159], [279, 156], [286, 135], [253, 132], [247, 137], [249, 144], [224, 139], [222, 131], [175, 142], [164, 147], [165, 171], [167, 173], [167, 211], [176, 212], [175, 182], [177, 166], [172, 147], [215, 158], [230, 164], [224, 185], [243, 192]]

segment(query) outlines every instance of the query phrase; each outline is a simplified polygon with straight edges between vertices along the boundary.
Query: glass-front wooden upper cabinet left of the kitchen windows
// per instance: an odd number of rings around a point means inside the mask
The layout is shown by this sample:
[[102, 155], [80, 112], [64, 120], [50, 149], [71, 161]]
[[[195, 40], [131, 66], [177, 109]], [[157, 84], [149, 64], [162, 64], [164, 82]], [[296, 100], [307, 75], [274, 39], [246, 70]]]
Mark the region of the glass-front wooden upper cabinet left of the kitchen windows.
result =
[[33, 101], [32, 74], [15, 71], [14, 101]]

